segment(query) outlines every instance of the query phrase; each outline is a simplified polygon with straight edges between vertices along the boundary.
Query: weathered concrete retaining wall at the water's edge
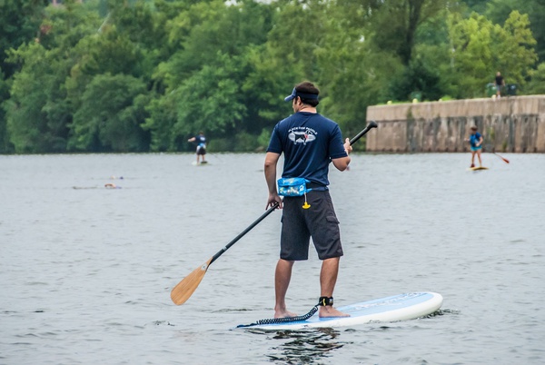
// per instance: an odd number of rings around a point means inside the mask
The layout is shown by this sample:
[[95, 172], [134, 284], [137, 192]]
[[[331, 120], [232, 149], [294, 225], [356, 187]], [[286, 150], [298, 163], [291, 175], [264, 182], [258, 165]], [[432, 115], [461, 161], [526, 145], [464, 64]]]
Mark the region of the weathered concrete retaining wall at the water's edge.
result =
[[467, 152], [477, 125], [484, 151], [545, 153], [545, 95], [370, 106], [367, 151]]

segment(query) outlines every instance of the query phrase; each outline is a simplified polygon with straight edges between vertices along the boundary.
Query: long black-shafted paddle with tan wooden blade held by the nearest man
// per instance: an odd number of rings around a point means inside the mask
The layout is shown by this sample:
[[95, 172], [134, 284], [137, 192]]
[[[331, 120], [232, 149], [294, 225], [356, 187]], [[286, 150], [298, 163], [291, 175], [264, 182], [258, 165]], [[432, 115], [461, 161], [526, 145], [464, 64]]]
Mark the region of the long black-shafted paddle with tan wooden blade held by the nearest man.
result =
[[[372, 128], [376, 128], [377, 123], [372, 121], [369, 123], [365, 129], [358, 133], [352, 140], [350, 141], [350, 144], [355, 143], [360, 138], [362, 138], [363, 134], [368, 133]], [[171, 291], [171, 299], [173, 300], [174, 304], [180, 305], [183, 304], [185, 301], [189, 299], [189, 297], [192, 296], [193, 292], [197, 289], [201, 281], [203, 280], [204, 274], [212, 265], [213, 261], [216, 261], [220, 256], [223, 255], [223, 252], [226, 252], [233, 246], [233, 244], [237, 241], [239, 241], [241, 238], [243, 238], [243, 235], [250, 232], [253, 227], [255, 227], [259, 222], [262, 222], [265, 217], [267, 217], [269, 214], [272, 213], [276, 208], [278, 208], [278, 202], [275, 202], [272, 204], [271, 208], [267, 209], [266, 212], [262, 214], [261, 217], [255, 220], [252, 224], [248, 226], [243, 232], [241, 232], [238, 236], [233, 238], [233, 241], [227, 243], [225, 247], [223, 247], [222, 250], [216, 252], [215, 255], [213, 255], [208, 261], [204, 262], [203, 265], [193, 270], [192, 273], [187, 275], [185, 278], [183, 278], [182, 281], [178, 282], [178, 284], [173, 288]]]

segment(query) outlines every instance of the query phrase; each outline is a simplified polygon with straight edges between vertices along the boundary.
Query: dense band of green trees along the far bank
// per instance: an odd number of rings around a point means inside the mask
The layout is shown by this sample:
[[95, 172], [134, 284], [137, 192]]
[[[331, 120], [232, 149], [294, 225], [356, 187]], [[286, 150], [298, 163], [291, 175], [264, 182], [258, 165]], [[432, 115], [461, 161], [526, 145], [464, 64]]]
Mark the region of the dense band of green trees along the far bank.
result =
[[263, 148], [311, 80], [352, 135], [366, 108], [545, 93], [545, 0], [5, 0], [0, 153]]

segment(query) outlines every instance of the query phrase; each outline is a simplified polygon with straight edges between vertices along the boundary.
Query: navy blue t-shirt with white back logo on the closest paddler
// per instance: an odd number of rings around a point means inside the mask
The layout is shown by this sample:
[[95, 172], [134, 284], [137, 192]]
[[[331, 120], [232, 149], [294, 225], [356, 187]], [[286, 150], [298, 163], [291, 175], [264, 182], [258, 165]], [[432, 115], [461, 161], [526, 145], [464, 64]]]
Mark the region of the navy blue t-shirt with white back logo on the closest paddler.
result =
[[323, 186], [331, 159], [346, 157], [339, 125], [319, 113], [294, 113], [272, 130], [267, 152], [284, 153], [282, 177], [303, 177]]

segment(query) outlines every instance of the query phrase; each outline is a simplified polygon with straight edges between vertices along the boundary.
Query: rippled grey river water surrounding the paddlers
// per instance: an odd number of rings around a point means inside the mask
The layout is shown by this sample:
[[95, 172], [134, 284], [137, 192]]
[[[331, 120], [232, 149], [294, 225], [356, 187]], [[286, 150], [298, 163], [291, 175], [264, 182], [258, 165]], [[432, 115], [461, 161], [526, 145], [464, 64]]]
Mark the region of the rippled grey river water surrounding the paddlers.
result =
[[[541, 364], [545, 155], [354, 154], [332, 172], [345, 256], [337, 305], [436, 291], [428, 318], [234, 329], [272, 316], [280, 212], [170, 291], [264, 212], [263, 154], [0, 156], [1, 364]], [[123, 177], [123, 179], [122, 179]], [[117, 189], [107, 189], [114, 183]], [[319, 296], [294, 266], [288, 306]]]

